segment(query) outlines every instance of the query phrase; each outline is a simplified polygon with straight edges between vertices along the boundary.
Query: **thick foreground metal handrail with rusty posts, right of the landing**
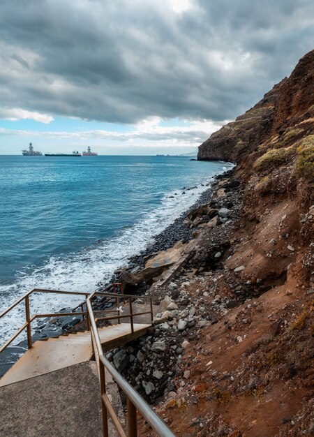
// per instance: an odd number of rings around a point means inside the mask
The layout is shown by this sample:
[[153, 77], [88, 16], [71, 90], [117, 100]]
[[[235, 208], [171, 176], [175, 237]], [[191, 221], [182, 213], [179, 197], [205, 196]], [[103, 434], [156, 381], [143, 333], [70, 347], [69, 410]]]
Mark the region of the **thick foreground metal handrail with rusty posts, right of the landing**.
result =
[[[149, 423], [149, 425], [156, 431], [158, 436], [160, 437], [174, 437], [172, 431], [167, 427], [165, 422], [160, 419], [160, 417], [151, 409], [149, 404], [144, 401], [144, 399], [134, 390], [134, 388], [120, 375], [120, 373], [114, 369], [114, 366], [110, 364], [105, 355], [103, 354], [103, 348], [100, 342], [100, 336], [98, 334], [98, 329], [96, 325], [96, 320], [94, 318], [93, 308], [91, 306], [91, 299], [93, 299], [94, 295], [98, 294], [98, 292], [93, 293], [87, 298], [87, 312], [89, 314], [89, 320], [91, 323], [91, 339], [94, 348], [94, 355], [96, 357], [97, 368], [99, 372], [99, 380], [100, 380], [100, 398], [102, 403], [102, 411], [103, 411], [103, 436], [110, 437], [108, 434], [108, 415], [110, 415], [112, 423], [117, 430], [117, 433], [121, 437], [136, 437], [137, 436], [137, 411], [144, 417], [144, 419]], [[130, 317], [133, 323], [133, 317], [136, 316], [136, 313], [133, 313], [132, 309], [132, 298], [135, 296], [124, 295], [130, 304], [130, 314], [125, 315], [125, 317]], [[152, 302], [151, 297], [145, 296], [144, 298], [149, 299], [151, 311], [147, 311], [146, 313], [152, 313]], [[119, 316], [122, 318], [124, 316]], [[99, 320], [99, 319], [98, 319]], [[133, 331], [132, 331], [133, 332]], [[124, 391], [128, 400], [128, 434], [124, 431], [121, 422], [119, 421], [119, 417], [117, 413], [115, 413], [112, 405], [106, 394], [106, 385], [105, 385], [105, 370], [107, 370], [112, 378], [114, 378], [117, 385], [119, 385], [120, 389]]]

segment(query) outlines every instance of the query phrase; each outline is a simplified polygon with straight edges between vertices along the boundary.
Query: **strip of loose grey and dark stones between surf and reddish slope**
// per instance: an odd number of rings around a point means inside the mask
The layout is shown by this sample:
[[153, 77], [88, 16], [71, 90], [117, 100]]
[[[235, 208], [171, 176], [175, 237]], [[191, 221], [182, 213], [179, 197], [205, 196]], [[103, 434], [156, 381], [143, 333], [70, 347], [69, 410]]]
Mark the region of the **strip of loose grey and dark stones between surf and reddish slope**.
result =
[[[239, 217], [241, 206], [239, 182], [232, 179], [232, 175], [234, 175], [234, 170], [218, 176], [197, 205], [178, 219], [179, 226], [188, 228], [190, 239], [195, 239], [198, 244], [190, 252], [184, 265], [180, 265], [174, 271], [171, 280], [161, 285], [153, 284], [145, 293], [153, 297], [154, 304], [158, 308], [154, 318], [154, 327], [151, 328], [149, 335], [107, 353], [107, 358], [113, 362], [117, 370], [149, 403], [167, 402], [167, 399], [174, 399], [179, 394], [188, 382], [190, 374], [190, 371], [184, 370], [182, 373], [180, 369], [181, 360], [189, 342], [200, 339], [204, 327], [217, 323], [228, 309], [237, 306], [244, 299], [242, 290], [241, 292], [238, 290], [233, 296], [220, 296], [216, 294], [215, 287], [202, 292], [196, 289], [197, 295], [193, 298], [188, 292], [188, 288], [198, 281], [202, 283], [202, 286], [205, 285], [204, 275], [214, 283], [222, 273], [224, 276], [230, 276], [224, 271], [220, 261], [226, 251], [230, 250], [226, 241], [230, 236], [232, 224]], [[213, 219], [206, 217], [204, 223], [198, 220], [198, 225], [188, 226], [187, 216], [195, 210], [202, 214], [202, 205], [216, 207], [216, 225], [207, 227], [206, 225]], [[230, 209], [227, 209], [227, 206]], [[223, 221], [220, 221], [221, 219]], [[197, 220], [194, 223], [197, 223]], [[167, 235], [167, 230], [165, 230], [165, 235]], [[174, 239], [175, 236], [178, 239], [181, 233], [174, 234]], [[168, 245], [177, 242], [177, 239], [173, 241], [172, 238], [171, 235], [169, 242], [163, 243], [164, 250], [169, 248]], [[154, 251], [154, 249], [151, 251], [149, 249], [147, 253], [141, 255], [140, 260]], [[200, 253], [206, 253], [207, 256], [211, 254], [212, 262], [209, 269], [202, 266], [203, 260]], [[138, 263], [138, 258], [135, 262]], [[234, 278], [230, 278], [230, 281], [237, 286]]]

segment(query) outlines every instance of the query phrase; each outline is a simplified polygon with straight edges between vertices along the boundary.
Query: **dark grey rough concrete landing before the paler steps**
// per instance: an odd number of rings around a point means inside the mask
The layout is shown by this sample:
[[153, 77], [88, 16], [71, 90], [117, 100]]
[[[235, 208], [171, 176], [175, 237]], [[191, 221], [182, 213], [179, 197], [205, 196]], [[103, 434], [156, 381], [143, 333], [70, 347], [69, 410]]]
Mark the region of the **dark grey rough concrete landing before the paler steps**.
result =
[[[123, 415], [117, 397], [112, 393], [114, 408]], [[1, 437], [103, 436], [95, 363], [1, 387], [0, 410]], [[109, 435], [117, 436], [111, 423]]]

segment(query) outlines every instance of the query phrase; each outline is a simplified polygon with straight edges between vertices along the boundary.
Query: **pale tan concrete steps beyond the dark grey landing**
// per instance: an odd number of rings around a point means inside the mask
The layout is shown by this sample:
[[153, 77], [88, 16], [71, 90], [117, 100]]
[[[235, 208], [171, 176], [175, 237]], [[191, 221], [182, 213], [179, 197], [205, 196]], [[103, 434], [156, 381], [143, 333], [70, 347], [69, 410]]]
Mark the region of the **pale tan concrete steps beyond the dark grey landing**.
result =
[[[121, 323], [98, 329], [103, 351], [106, 352], [144, 335], [151, 325]], [[87, 362], [93, 355], [90, 332], [77, 332], [45, 341], [36, 341], [0, 379], [0, 387], [34, 378], [74, 364]], [[57, 434], [56, 434], [57, 435]]]

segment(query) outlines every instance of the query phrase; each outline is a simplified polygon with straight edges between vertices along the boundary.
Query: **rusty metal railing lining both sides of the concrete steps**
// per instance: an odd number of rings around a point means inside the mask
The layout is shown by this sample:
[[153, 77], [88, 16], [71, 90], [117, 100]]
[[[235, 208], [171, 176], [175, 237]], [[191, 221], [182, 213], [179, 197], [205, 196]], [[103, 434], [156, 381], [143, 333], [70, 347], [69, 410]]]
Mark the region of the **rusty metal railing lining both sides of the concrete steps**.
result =
[[[120, 284], [117, 284], [120, 285]], [[108, 288], [110, 289], [110, 288]], [[114, 424], [115, 429], [120, 437], [137, 437], [137, 412], [139, 412], [144, 420], [151, 426], [154, 431], [160, 437], [175, 437], [172, 431], [167, 427], [165, 422], [160, 419], [160, 417], [151, 409], [149, 404], [144, 401], [144, 399], [138, 394], [134, 388], [120, 375], [120, 373], [110, 364], [109, 360], [105, 357], [103, 353], [103, 347], [101, 346], [100, 336], [98, 333], [97, 323], [117, 320], [117, 323], [121, 323], [122, 319], [130, 320], [130, 332], [133, 334], [135, 332], [134, 329], [134, 319], [136, 316], [143, 316], [145, 314], [149, 314], [151, 323], [153, 322], [154, 314], [153, 314], [153, 305], [151, 297], [148, 296], [133, 296], [133, 295], [124, 295], [118, 294], [117, 288], [114, 287], [113, 293], [108, 292], [93, 292], [89, 294], [88, 292], [70, 292], [70, 291], [61, 291], [61, 290], [44, 290], [40, 288], [34, 288], [33, 290], [27, 292], [25, 295], [20, 297], [14, 304], [8, 307], [5, 311], [0, 314], [0, 319], [3, 316], [6, 316], [12, 309], [15, 308], [18, 304], [20, 304], [24, 300], [25, 306], [25, 316], [26, 322], [22, 325], [17, 332], [13, 334], [13, 336], [6, 341], [0, 348], [0, 353], [12, 343], [12, 341], [19, 336], [24, 329], [27, 329], [27, 346], [28, 348], [32, 347], [31, 340], [31, 323], [36, 318], [43, 317], [62, 317], [62, 316], [83, 316], [87, 318], [87, 327], [91, 332], [91, 344], [94, 350], [94, 357], [97, 364], [98, 376], [100, 381], [100, 398], [102, 403], [102, 415], [103, 415], [103, 436], [110, 437], [108, 434], [108, 415], [110, 416], [112, 423]], [[30, 308], [29, 308], [29, 296], [34, 292], [43, 292], [43, 293], [58, 293], [64, 295], [73, 295], [73, 296], [84, 296], [85, 301], [76, 306], [73, 311], [65, 312], [65, 313], [47, 313], [47, 314], [35, 314], [31, 316]], [[96, 297], [102, 297], [99, 302], [93, 305], [92, 301]], [[149, 303], [149, 311], [133, 311], [133, 300], [135, 299], [144, 299]], [[121, 305], [123, 303], [123, 306]], [[85, 311], [84, 311], [85, 305]], [[94, 306], [94, 308], [93, 308]], [[107, 306], [107, 309], [99, 309], [100, 306]], [[114, 308], [115, 307], [115, 308]], [[126, 309], [128, 307], [128, 311]], [[76, 312], [75, 310], [80, 308], [82, 311]], [[117, 313], [114, 316], [105, 316], [95, 318], [94, 314], [101, 313]], [[128, 320], [127, 320], [128, 321]], [[126, 394], [127, 398], [127, 407], [128, 407], [128, 432], [124, 431], [123, 424], [121, 424], [117, 413], [114, 411], [112, 407], [112, 403], [110, 403], [110, 399], [106, 394], [106, 385], [105, 385], [105, 370], [108, 371], [114, 381], [119, 385], [120, 389]]]

